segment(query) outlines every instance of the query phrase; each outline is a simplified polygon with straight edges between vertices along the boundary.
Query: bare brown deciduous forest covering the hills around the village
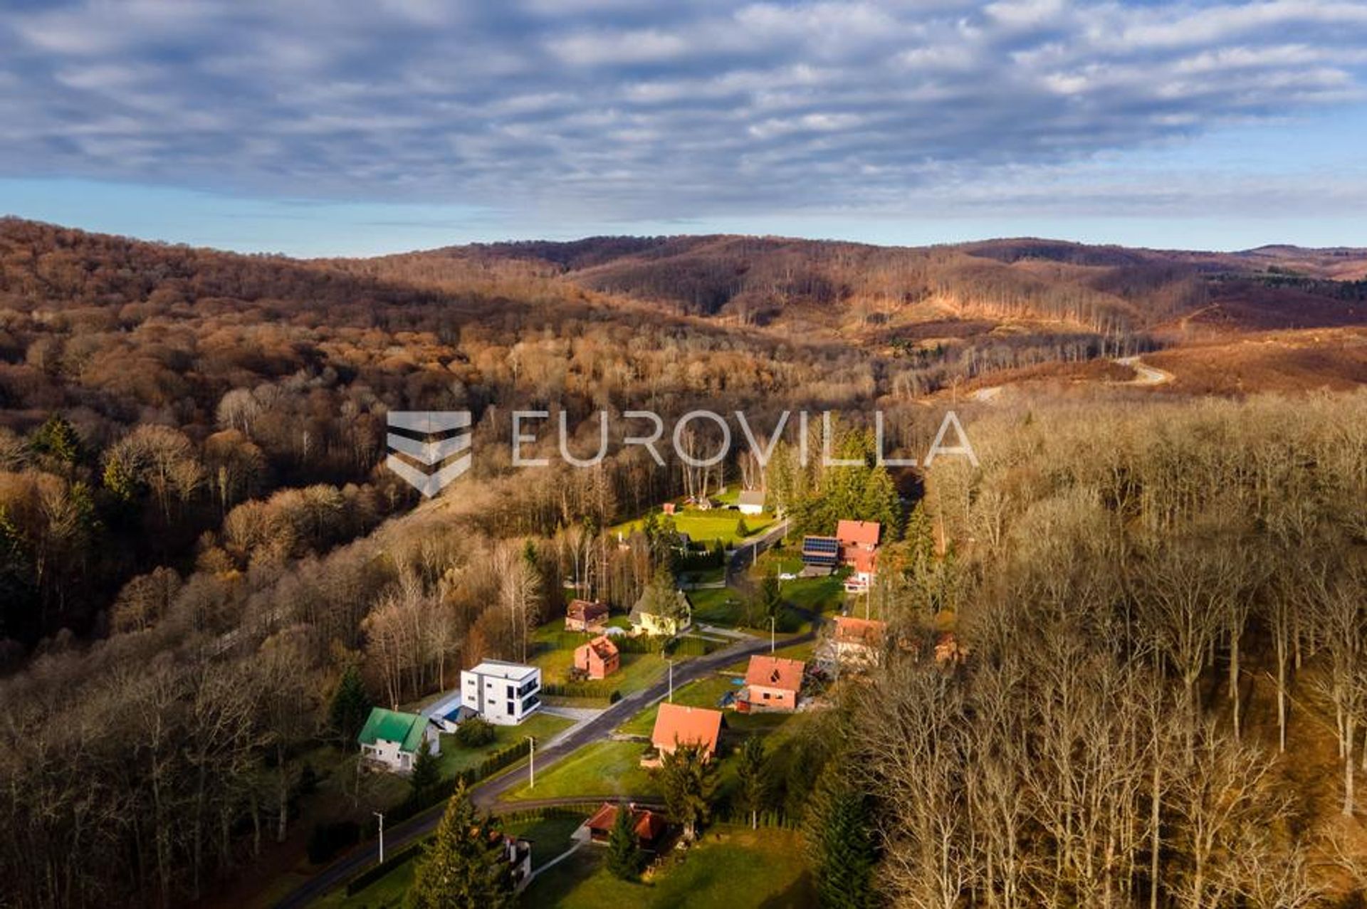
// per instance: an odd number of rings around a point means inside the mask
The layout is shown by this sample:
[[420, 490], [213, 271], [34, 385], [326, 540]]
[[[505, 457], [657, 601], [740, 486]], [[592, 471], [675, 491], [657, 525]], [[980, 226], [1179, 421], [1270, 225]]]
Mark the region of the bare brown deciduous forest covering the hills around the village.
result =
[[[349, 673], [396, 705], [518, 657], [576, 582], [634, 601], [659, 544], [607, 528], [707, 480], [640, 448], [515, 472], [510, 410], [591, 451], [595, 411], [697, 406], [880, 407], [916, 455], [946, 407], [968, 428], [979, 467], [897, 477], [883, 670], [770, 759], [764, 808], [853, 817], [887, 905], [1362, 905], [1356, 361], [1219, 396], [1109, 362], [1360, 347], [1325, 268], [767, 238], [299, 261], [0, 221], [0, 905], [200, 899], [295, 834]], [[474, 414], [459, 495], [384, 470], [401, 409]], [[820, 529], [845, 481], [789, 458], [768, 485]]]

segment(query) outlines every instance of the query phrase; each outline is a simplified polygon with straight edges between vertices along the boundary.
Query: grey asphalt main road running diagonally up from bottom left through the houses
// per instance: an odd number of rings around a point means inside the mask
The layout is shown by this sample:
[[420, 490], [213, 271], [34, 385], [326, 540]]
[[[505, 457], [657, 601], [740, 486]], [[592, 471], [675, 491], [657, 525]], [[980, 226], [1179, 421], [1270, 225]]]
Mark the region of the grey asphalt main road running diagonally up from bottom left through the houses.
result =
[[[797, 641], [807, 641], [815, 636], [815, 632], [808, 632], [794, 638], [786, 638], [786, 644], [793, 644]], [[770, 647], [768, 640], [755, 638], [752, 641], [737, 641], [730, 647], [720, 651], [709, 653], [708, 656], [697, 656], [679, 663], [674, 668], [674, 685], [686, 685], [693, 679], [701, 678], [709, 673], [719, 670], [729, 663], [750, 656], [753, 653], [763, 653]], [[556, 761], [563, 760], [567, 755], [578, 750], [584, 745], [591, 742], [606, 740], [612, 734], [612, 730], [625, 723], [627, 719], [638, 714], [641, 709], [649, 704], [663, 698], [668, 694], [668, 678], [658, 685], [648, 689], [627, 694], [617, 704], [612, 704], [606, 711], [599, 714], [596, 718], [588, 720], [586, 723], [573, 729], [569, 734], [562, 737], [554, 745], [548, 745], [544, 749], [537, 749], [536, 752], [536, 770], [543, 772], [555, 765]], [[507, 771], [500, 776], [485, 781], [476, 786], [470, 791], [470, 797], [474, 804], [484, 811], [493, 811], [498, 813], [499, 798], [513, 786], [517, 786], [524, 779], [526, 779], [526, 765], [519, 764], [513, 770]], [[593, 793], [585, 793], [586, 798], [592, 798]], [[547, 800], [547, 802], [554, 802], [559, 800]], [[565, 801], [582, 801], [578, 800], [565, 800]], [[537, 802], [517, 802], [517, 808], [534, 806]], [[442, 820], [442, 812], [444, 805], [436, 805], [429, 808], [416, 817], [410, 817], [399, 824], [384, 831], [384, 846], [390, 854], [396, 853], [403, 846], [407, 846], [416, 839], [425, 837], [427, 834], [436, 830], [437, 823]], [[276, 909], [297, 909], [298, 906], [306, 906], [323, 894], [339, 887], [355, 875], [361, 873], [368, 867], [379, 861], [379, 846], [375, 842], [368, 842], [357, 846], [349, 852], [342, 858], [336, 860], [317, 875], [310, 878], [306, 883], [301, 884], [290, 895], [287, 895], [280, 902], [275, 904]]]

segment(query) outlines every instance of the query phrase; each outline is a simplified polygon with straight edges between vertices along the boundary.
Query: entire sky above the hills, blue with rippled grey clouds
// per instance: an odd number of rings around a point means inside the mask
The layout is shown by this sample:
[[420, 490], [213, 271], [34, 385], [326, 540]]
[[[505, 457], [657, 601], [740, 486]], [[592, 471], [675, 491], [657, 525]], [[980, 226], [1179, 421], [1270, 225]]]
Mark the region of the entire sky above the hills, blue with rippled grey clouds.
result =
[[92, 230], [1367, 245], [1364, 0], [0, 8], [0, 212]]

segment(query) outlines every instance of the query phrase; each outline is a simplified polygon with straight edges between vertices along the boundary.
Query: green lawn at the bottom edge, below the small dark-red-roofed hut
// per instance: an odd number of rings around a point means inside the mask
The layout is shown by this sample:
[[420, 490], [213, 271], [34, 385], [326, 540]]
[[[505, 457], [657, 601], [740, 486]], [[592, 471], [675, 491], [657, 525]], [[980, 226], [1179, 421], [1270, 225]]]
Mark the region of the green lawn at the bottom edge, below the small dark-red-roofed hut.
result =
[[701, 843], [675, 853], [648, 883], [626, 883], [604, 868], [603, 849], [581, 850], [532, 882], [524, 906], [601, 909], [760, 909], [815, 906], [800, 837], [787, 830], [718, 826]]

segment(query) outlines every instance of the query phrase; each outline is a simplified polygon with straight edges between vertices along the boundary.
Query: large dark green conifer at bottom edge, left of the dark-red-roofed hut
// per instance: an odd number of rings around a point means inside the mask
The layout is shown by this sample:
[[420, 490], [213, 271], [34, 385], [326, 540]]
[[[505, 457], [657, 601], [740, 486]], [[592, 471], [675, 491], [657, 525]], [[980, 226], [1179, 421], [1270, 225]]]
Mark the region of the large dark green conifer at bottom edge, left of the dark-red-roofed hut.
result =
[[413, 871], [407, 909], [509, 909], [513, 906], [513, 865], [503, 838], [470, 802], [465, 783], [457, 786], [442, 823]]

